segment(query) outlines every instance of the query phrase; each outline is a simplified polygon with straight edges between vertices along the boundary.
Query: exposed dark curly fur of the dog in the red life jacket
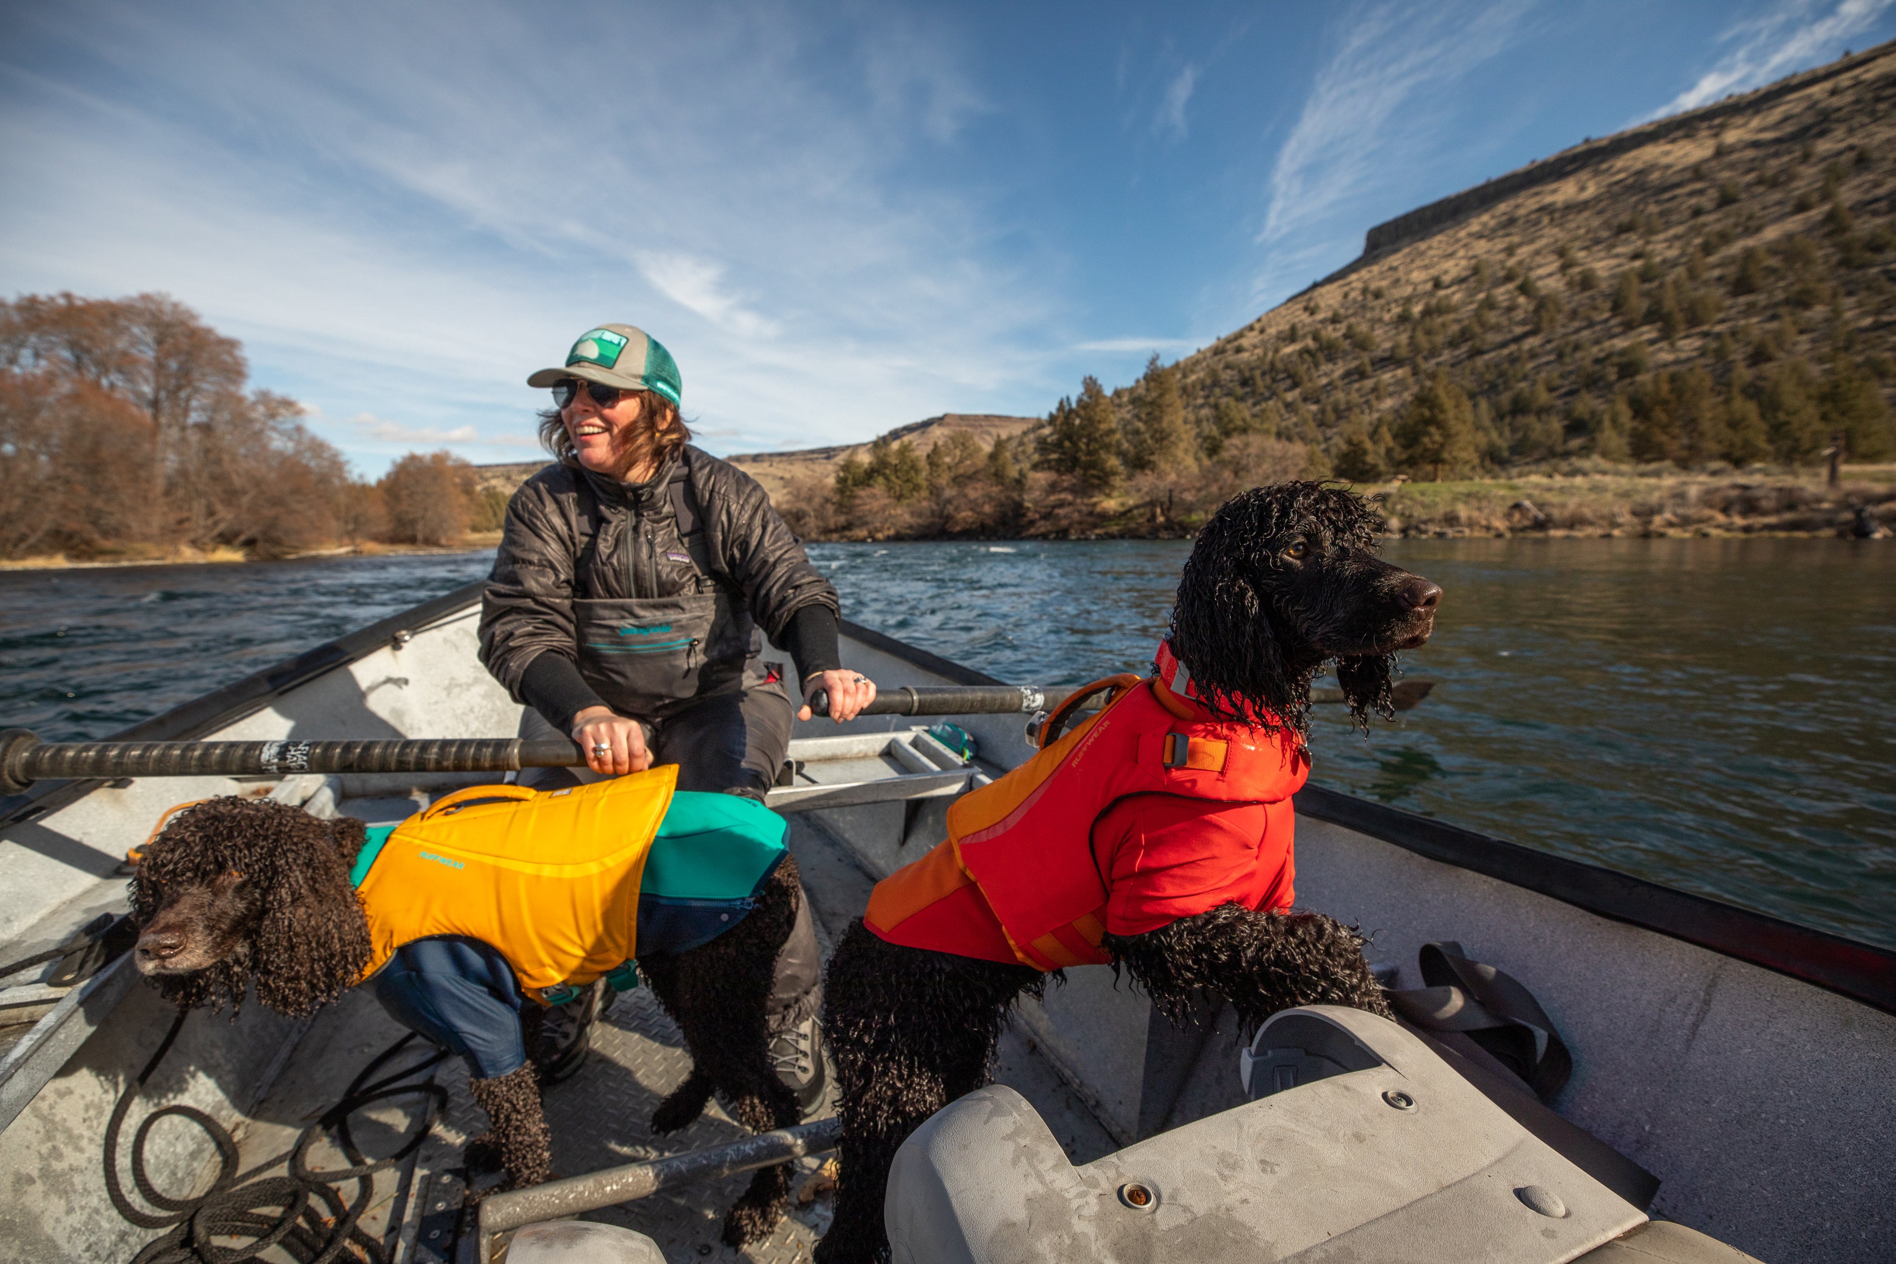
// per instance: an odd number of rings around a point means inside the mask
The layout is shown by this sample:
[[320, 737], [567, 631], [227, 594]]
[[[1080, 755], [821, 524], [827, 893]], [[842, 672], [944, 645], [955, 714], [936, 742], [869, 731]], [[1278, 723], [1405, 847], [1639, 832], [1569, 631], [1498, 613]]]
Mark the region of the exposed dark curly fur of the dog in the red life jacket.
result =
[[[1329, 659], [1359, 724], [1392, 714], [1395, 650], [1428, 641], [1441, 589], [1376, 559], [1380, 533], [1382, 517], [1359, 497], [1308, 481], [1248, 491], [1212, 517], [1185, 563], [1168, 641], [1213, 714], [1301, 739], [1310, 678]], [[1392, 1018], [1361, 946], [1322, 913], [1238, 902], [1100, 942], [1174, 1023], [1187, 1021], [1202, 987], [1227, 997], [1248, 1031], [1297, 1004]], [[1037, 999], [1047, 978], [851, 923], [825, 980], [844, 1143], [819, 1260], [887, 1258], [882, 1211], [895, 1150], [929, 1114], [988, 1084], [1009, 1008], [1022, 993]]]

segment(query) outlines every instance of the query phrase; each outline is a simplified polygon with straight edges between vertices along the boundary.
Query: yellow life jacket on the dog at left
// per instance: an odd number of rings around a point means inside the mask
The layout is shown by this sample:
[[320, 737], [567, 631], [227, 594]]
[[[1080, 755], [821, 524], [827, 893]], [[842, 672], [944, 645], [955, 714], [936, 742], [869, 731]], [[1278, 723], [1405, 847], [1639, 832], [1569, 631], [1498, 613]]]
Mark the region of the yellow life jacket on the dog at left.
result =
[[362, 978], [436, 934], [501, 948], [529, 995], [631, 961], [645, 860], [677, 783], [665, 764], [571, 790], [468, 786], [410, 817], [356, 862]]

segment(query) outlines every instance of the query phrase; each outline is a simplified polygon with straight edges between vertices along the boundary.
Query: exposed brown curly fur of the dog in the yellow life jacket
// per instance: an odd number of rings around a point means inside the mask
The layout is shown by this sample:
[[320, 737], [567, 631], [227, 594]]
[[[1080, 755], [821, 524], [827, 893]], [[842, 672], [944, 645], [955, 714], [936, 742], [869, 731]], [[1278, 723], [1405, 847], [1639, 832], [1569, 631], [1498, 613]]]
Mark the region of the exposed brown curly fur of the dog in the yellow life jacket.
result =
[[[368, 913], [349, 881], [362, 843], [364, 824], [353, 817], [319, 821], [267, 800], [214, 798], [186, 809], [133, 876], [138, 972], [184, 1008], [235, 1014], [252, 982], [258, 1001], [279, 1014], [305, 1016], [334, 1001], [370, 961]], [[766, 1031], [774, 963], [796, 904], [796, 860], [785, 853], [757, 906], [730, 930], [639, 959], [692, 1056], [690, 1076], [652, 1112], [654, 1131], [688, 1126], [713, 1092], [753, 1131], [798, 1122], [796, 1095], [772, 1071]], [[525, 1020], [533, 1018], [529, 1006]], [[550, 1135], [533, 1063], [474, 1078], [470, 1090], [489, 1120], [470, 1158], [499, 1160], [510, 1188], [546, 1181]], [[787, 1164], [760, 1169], [724, 1220], [726, 1241], [768, 1234], [783, 1217], [789, 1181]]]

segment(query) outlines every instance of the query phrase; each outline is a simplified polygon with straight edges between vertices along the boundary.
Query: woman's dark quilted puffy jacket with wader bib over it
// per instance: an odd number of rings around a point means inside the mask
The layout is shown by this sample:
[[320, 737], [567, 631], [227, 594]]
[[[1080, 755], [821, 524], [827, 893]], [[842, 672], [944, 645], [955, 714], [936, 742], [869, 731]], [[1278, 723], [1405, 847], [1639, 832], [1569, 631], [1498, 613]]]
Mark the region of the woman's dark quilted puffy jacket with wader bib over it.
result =
[[482, 599], [480, 659], [516, 701], [540, 654], [573, 659], [620, 714], [739, 688], [798, 608], [840, 614], [770, 497], [686, 445], [650, 483], [556, 462], [506, 506]]

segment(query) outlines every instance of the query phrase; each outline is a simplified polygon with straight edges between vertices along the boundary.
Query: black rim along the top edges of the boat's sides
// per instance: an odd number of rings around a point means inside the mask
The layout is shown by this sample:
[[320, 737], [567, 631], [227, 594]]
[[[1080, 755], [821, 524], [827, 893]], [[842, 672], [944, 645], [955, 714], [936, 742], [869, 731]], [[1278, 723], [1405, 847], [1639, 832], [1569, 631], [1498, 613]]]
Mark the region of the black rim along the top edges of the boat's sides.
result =
[[[271, 699], [337, 667], [374, 654], [400, 631], [419, 631], [480, 601], [485, 580], [463, 584], [440, 597], [391, 614], [385, 620], [319, 644], [273, 667], [233, 680], [218, 690], [140, 720], [108, 741], [186, 741], [262, 711]], [[842, 620], [842, 633], [956, 684], [1005, 684], [887, 633]], [[0, 800], [0, 828], [64, 807], [104, 781], [68, 781], [34, 786], [8, 804]], [[1723, 957], [1746, 961], [1777, 974], [1896, 1014], [1896, 951], [1803, 927], [1710, 896], [1634, 877], [1585, 860], [1511, 843], [1447, 821], [1363, 800], [1327, 786], [1306, 785], [1295, 807], [1312, 819], [1356, 830], [1443, 864], [1452, 864], [1513, 887], [1543, 894], [1610, 921], [1684, 940]]]

